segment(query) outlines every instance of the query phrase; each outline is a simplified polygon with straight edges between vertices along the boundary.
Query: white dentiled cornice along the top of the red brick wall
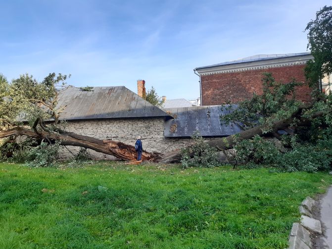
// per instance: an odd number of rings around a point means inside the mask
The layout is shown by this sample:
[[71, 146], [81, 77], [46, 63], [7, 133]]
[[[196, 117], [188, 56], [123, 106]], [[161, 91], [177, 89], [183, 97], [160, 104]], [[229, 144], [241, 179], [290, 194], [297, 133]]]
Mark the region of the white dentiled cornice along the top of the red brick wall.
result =
[[257, 60], [250, 62], [240, 62], [228, 65], [217, 65], [206, 68], [196, 69], [200, 75], [210, 75], [217, 73], [234, 73], [248, 70], [259, 70], [274, 67], [294, 66], [305, 64], [308, 60], [313, 59], [311, 54], [290, 56], [283, 58], [274, 58], [266, 60]]

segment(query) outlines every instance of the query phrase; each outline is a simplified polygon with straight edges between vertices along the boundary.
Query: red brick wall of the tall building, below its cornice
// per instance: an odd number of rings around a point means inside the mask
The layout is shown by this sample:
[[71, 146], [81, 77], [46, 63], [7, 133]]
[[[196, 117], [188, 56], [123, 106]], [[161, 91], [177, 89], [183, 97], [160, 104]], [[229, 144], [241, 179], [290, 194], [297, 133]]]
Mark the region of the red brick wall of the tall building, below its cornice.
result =
[[[218, 73], [202, 75], [202, 105], [237, 103], [250, 99], [253, 93], [262, 94], [263, 72], [271, 72], [280, 82], [289, 82], [295, 78], [305, 82], [305, 65], [274, 67], [267, 69], [248, 70], [234, 73]], [[310, 89], [301, 86], [296, 89], [296, 98], [302, 101], [310, 100]]]

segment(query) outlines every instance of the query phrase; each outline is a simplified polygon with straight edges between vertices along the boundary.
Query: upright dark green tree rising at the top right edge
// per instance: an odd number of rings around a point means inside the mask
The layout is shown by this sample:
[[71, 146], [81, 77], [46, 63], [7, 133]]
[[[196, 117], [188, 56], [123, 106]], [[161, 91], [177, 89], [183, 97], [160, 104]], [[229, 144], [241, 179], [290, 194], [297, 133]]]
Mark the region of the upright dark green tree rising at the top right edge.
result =
[[305, 31], [308, 32], [308, 46], [314, 56], [307, 62], [305, 73], [312, 85], [324, 75], [332, 73], [332, 6], [324, 6], [316, 12]]

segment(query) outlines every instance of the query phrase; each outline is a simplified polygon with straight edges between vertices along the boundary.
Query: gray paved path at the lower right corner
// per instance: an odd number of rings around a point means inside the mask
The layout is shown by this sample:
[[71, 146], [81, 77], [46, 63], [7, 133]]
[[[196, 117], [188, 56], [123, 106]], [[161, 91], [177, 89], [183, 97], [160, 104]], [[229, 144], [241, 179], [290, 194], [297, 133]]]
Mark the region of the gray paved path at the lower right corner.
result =
[[323, 235], [317, 241], [317, 246], [322, 249], [332, 249], [332, 187], [321, 199], [321, 223]]

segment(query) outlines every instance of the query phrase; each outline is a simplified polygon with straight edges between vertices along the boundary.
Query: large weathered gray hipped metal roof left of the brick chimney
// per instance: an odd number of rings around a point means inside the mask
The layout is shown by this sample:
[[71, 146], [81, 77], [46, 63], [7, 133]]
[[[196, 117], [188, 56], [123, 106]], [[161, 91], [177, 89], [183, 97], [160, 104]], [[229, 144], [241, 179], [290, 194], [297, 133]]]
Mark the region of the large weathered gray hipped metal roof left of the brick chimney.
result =
[[169, 116], [124, 86], [94, 87], [93, 91], [70, 86], [59, 93], [57, 106], [65, 105], [61, 120]]

